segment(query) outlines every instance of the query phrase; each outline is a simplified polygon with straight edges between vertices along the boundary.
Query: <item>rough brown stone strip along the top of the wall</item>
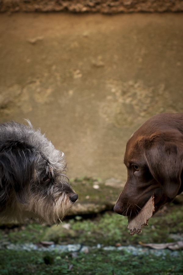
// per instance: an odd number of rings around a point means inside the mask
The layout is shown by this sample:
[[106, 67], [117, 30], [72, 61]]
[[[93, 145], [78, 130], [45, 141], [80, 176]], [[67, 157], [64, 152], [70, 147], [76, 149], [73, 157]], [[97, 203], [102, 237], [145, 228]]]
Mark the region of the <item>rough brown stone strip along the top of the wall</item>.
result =
[[180, 12], [182, 0], [1, 0], [1, 12]]

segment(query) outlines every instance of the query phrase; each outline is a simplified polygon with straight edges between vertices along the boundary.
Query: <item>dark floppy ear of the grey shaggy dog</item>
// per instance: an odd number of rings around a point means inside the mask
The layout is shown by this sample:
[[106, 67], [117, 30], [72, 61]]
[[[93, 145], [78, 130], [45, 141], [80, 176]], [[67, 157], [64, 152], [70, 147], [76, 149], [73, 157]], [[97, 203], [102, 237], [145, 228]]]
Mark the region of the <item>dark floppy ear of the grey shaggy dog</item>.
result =
[[5, 201], [15, 192], [18, 199], [26, 202], [25, 193], [34, 173], [34, 148], [20, 141], [3, 143], [0, 152], [0, 196]]

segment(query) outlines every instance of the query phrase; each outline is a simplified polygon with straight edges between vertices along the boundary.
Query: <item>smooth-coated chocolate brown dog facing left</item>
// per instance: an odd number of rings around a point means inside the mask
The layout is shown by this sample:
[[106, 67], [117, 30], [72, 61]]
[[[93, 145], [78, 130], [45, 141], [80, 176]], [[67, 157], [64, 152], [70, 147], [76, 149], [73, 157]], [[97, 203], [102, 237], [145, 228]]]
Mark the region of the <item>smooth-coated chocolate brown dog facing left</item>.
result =
[[183, 191], [183, 113], [147, 120], [127, 142], [127, 182], [114, 211], [135, 216], [154, 195], [155, 212]]

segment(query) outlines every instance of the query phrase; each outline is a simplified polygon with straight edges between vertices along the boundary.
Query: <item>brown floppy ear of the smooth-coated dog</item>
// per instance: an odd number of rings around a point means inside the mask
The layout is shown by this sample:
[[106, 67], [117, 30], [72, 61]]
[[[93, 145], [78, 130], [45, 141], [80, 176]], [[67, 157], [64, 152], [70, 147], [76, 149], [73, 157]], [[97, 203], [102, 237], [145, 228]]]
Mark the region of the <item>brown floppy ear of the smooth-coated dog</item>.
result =
[[142, 138], [145, 158], [153, 177], [165, 194], [173, 199], [181, 186], [183, 169], [183, 135], [178, 131], [157, 132]]

